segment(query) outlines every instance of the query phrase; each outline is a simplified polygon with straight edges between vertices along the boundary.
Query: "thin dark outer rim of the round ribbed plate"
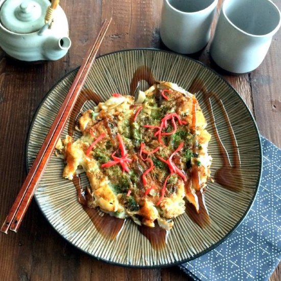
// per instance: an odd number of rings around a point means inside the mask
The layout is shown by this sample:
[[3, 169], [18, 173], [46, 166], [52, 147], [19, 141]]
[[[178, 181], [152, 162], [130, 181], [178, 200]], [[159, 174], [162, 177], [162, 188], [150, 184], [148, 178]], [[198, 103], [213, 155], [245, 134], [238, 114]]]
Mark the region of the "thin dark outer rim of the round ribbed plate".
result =
[[[255, 132], [256, 132], [256, 136], [257, 136], [257, 140], [258, 140], [258, 143], [259, 143], [259, 157], [260, 157], [260, 170], [259, 170], [259, 175], [257, 176], [257, 183], [256, 183], [256, 186], [255, 186], [255, 191], [254, 191], [254, 194], [253, 194], [253, 197], [251, 198], [251, 201], [249, 202], [249, 205], [247, 207], [247, 209], [245, 210], [245, 213], [243, 214], [243, 216], [241, 217], [241, 219], [235, 224], [235, 226], [232, 227], [232, 229], [230, 229], [226, 235], [221, 239], [219, 240], [218, 242], [216, 242], [215, 244], [211, 245], [210, 247], [208, 247], [207, 249], [203, 250], [202, 252], [200, 253], [197, 253], [191, 257], [189, 257], [189, 259], [185, 259], [185, 260], [182, 260], [182, 261], [177, 261], [177, 262], [174, 262], [174, 263], [168, 263], [168, 264], [163, 264], [163, 265], [150, 265], [150, 266], [146, 266], [146, 265], [142, 265], [142, 266], [139, 266], [139, 265], [129, 265], [129, 264], [122, 264], [122, 263], [118, 263], [118, 262], [112, 262], [112, 261], [108, 261], [108, 260], [105, 260], [105, 259], [102, 259], [100, 257], [97, 257], [85, 250], [83, 250], [82, 248], [78, 247], [77, 245], [75, 245], [73, 242], [69, 241], [68, 239], [66, 239], [66, 237], [64, 237], [62, 235], [62, 233], [60, 233], [56, 228], [55, 226], [50, 222], [50, 220], [48, 219], [48, 217], [45, 215], [45, 213], [43, 212], [39, 202], [38, 202], [38, 199], [36, 197], [36, 194], [34, 194], [34, 198], [35, 198], [35, 201], [40, 209], [40, 212], [42, 213], [42, 215], [44, 216], [44, 218], [46, 219], [46, 221], [49, 222], [49, 224], [53, 227], [53, 229], [55, 229], [55, 231], [60, 235], [60, 237], [62, 237], [65, 241], [67, 241], [69, 244], [71, 244], [72, 246], [74, 246], [76, 249], [86, 253], [87, 255], [90, 255], [91, 257], [99, 260], [99, 261], [103, 261], [107, 264], [110, 264], [110, 265], [115, 265], [115, 266], [121, 266], [121, 267], [126, 267], [126, 268], [135, 268], [135, 269], [156, 269], [156, 268], [167, 268], [167, 267], [172, 267], [172, 266], [178, 266], [180, 264], [184, 264], [184, 263], [187, 263], [187, 262], [190, 262], [192, 260], [195, 260], [197, 259], [198, 257], [214, 250], [215, 248], [217, 248], [219, 245], [221, 245], [223, 242], [225, 242], [231, 235], [232, 233], [241, 225], [241, 223], [244, 221], [244, 219], [247, 217], [248, 213], [250, 212], [250, 209], [256, 199], [256, 195], [257, 195], [257, 192], [259, 191], [260, 189], [260, 183], [261, 183], [261, 179], [262, 179], [262, 171], [263, 171], [263, 150], [262, 150], [262, 142], [261, 142], [261, 135], [260, 135], [260, 132], [259, 132], [259, 129], [257, 128], [257, 124], [256, 124], [256, 121], [253, 117], [253, 114], [252, 112], [250, 111], [248, 105], [245, 103], [245, 101], [242, 99], [242, 97], [240, 96], [239, 92], [228, 82], [226, 81], [222, 75], [220, 75], [219, 73], [217, 73], [213, 68], [211, 68], [210, 66], [207, 66], [205, 65], [204, 63], [202, 63], [201, 61], [198, 61], [194, 58], [191, 58], [189, 56], [186, 56], [186, 55], [183, 55], [183, 54], [178, 54], [178, 53], [174, 53], [172, 51], [167, 51], [167, 50], [161, 50], [161, 49], [155, 49], [155, 48], [132, 48], [132, 49], [122, 49], [122, 50], [119, 50], [119, 51], [113, 51], [113, 52], [110, 52], [110, 53], [106, 53], [106, 54], [102, 54], [100, 56], [98, 56], [96, 59], [100, 59], [104, 56], [108, 56], [108, 55], [112, 55], [112, 54], [116, 54], [116, 53], [125, 53], [125, 52], [131, 52], [131, 51], [153, 51], [153, 52], [162, 52], [162, 53], [168, 53], [168, 54], [172, 54], [172, 55], [176, 55], [176, 56], [180, 56], [180, 57], [183, 57], [187, 60], [192, 60], [196, 63], [199, 63], [201, 64], [203, 67], [207, 68], [209, 71], [213, 72], [217, 77], [219, 77], [224, 83], [226, 83], [235, 93], [236, 95], [239, 97], [239, 99], [242, 101], [242, 103], [244, 104], [246, 110], [248, 111], [248, 113], [250, 114], [251, 116], [251, 119], [252, 119], [252, 122], [253, 122], [253, 125], [254, 125], [254, 129], [255, 129]], [[95, 62], [94, 62], [95, 63]], [[72, 69], [71, 71], [69, 71], [68, 73], [66, 73], [62, 78], [60, 78], [52, 87], [51, 89], [46, 92], [44, 98], [42, 99], [42, 101], [39, 103], [39, 105], [37, 106], [33, 116], [32, 116], [32, 122], [30, 123], [30, 126], [29, 126], [29, 129], [28, 129], [28, 134], [27, 134], [27, 137], [26, 137], [26, 145], [25, 145], [25, 168], [26, 168], [26, 172], [28, 173], [29, 172], [29, 167], [28, 167], [28, 144], [30, 142], [30, 137], [31, 137], [31, 130], [34, 126], [34, 123], [35, 123], [35, 119], [36, 119], [36, 116], [38, 115], [38, 112], [39, 110], [41, 109], [41, 107], [43, 106], [45, 100], [49, 97], [50, 93], [55, 89], [55, 87], [60, 83], [62, 82], [65, 78], [67, 78], [69, 75], [73, 74], [74, 72], [78, 71], [80, 66]]]

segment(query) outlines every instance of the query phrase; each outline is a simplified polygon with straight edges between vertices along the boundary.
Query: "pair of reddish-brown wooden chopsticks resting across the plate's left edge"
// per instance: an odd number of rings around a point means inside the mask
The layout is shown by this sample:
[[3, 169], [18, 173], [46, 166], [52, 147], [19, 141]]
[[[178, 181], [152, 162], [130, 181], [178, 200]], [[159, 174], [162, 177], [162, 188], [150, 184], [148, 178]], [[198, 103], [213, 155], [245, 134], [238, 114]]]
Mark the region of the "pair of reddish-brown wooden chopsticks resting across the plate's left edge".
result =
[[36, 186], [40, 181], [43, 172], [48, 165], [48, 162], [53, 154], [56, 144], [59, 140], [61, 132], [74, 108], [74, 105], [78, 99], [79, 93], [84, 85], [84, 82], [89, 74], [93, 61], [96, 58], [100, 45], [104, 39], [106, 31], [110, 25], [112, 18], [106, 19], [100, 29], [95, 43], [91, 46], [90, 50], [86, 54], [86, 57], [74, 79], [74, 82], [69, 89], [65, 100], [48, 132], [42, 147], [40, 148], [34, 163], [21, 186], [21, 189], [10, 209], [10, 212], [2, 225], [1, 231], [8, 233], [8, 230], [17, 232], [22, 219], [25, 216], [27, 208], [31, 202], [31, 199], [35, 193]]

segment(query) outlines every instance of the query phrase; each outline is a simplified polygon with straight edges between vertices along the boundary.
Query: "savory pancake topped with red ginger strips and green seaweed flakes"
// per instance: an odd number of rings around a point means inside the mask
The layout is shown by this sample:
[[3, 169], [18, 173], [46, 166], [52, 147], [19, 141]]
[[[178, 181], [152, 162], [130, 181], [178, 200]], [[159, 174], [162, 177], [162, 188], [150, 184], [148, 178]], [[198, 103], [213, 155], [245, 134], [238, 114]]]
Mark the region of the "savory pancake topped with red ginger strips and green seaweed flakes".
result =
[[199, 210], [212, 158], [210, 134], [195, 96], [169, 82], [132, 96], [111, 98], [82, 113], [75, 142], [66, 136], [63, 177], [77, 169], [89, 179], [87, 205], [137, 224], [171, 229], [187, 199]]

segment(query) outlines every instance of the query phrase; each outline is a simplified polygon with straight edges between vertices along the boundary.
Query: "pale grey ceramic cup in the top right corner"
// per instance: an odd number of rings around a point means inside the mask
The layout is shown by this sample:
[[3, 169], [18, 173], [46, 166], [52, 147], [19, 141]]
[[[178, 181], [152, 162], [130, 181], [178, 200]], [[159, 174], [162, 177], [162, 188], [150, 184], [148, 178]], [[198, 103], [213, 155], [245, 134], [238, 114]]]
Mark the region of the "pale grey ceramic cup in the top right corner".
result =
[[253, 71], [264, 60], [280, 19], [280, 11], [269, 0], [225, 0], [210, 46], [211, 57], [226, 71]]

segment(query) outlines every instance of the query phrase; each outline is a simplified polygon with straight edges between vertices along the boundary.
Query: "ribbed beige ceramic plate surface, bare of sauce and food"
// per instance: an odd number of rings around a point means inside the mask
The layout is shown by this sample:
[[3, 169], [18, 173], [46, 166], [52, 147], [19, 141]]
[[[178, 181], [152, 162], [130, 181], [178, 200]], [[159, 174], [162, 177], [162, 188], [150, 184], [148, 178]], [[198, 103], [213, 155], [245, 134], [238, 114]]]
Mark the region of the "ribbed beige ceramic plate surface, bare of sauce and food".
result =
[[[233, 128], [241, 157], [243, 188], [235, 192], [216, 182], [208, 182], [205, 202], [211, 223], [201, 228], [187, 214], [174, 220], [167, 246], [154, 250], [131, 220], [125, 222], [120, 235], [105, 239], [92, 224], [77, 201], [76, 189], [71, 181], [62, 178], [63, 161], [53, 155], [36, 191], [36, 199], [45, 217], [67, 241], [84, 252], [103, 261], [134, 267], [169, 266], [186, 262], [215, 248], [241, 223], [253, 203], [262, 169], [260, 137], [252, 115], [239, 96], [226, 81], [203, 64], [181, 55], [148, 49], [127, 50], [99, 57], [93, 64], [85, 88], [98, 93], [103, 100], [113, 92], [130, 93], [130, 83], [140, 66], [151, 69], [156, 80], [177, 83], [190, 89], [194, 81], [203, 81], [208, 92], [213, 91], [222, 100]], [[48, 93], [32, 123], [27, 143], [27, 162], [31, 166], [45, 135], [51, 127], [63, 99], [77, 71], [66, 75]], [[144, 85], [143, 87], [146, 87]], [[223, 165], [204, 93], [194, 88], [212, 134], [208, 152], [213, 157], [212, 175]], [[85, 109], [95, 106], [89, 102]], [[233, 161], [228, 125], [218, 102], [212, 100], [213, 112], [220, 138], [230, 161]], [[62, 137], [67, 133], [67, 128]], [[82, 178], [87, 184], [86, 178]], [[240, 181], [238, 180], [238, 184]]]

